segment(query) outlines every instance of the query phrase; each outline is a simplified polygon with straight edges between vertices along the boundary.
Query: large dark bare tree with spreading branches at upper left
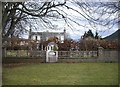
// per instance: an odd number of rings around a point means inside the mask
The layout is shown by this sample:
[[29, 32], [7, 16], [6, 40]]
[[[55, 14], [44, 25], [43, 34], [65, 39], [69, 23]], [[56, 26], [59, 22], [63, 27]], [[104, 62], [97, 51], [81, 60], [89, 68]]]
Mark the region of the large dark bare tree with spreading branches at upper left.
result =
[[[24, 31], [25, 25], [31, 23], [30, 20], [40, 18], [42, 22], [49, 23], [45, 17], [55, 17], [52, 12], [56, 12], [61, 15], [56, 8], [58, 6], [63, 6], [66, 3], [64, 2], [3, 2], [2, 3], [2, 36], [10, 37], [18, 31]], [[63, 17], [63, 15], [62, 15]]]

